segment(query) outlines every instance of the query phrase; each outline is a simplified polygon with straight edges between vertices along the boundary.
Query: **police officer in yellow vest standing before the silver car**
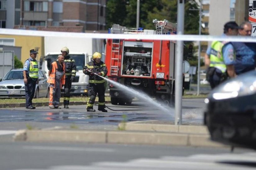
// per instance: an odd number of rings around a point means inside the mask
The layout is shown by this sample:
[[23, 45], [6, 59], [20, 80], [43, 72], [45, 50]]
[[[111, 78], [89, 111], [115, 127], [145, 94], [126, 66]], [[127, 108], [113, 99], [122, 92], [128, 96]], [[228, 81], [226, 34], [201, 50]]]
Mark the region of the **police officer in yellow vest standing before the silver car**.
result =
[[34, 97], [36, 84], [38, 81], [38, 63], [36, 60], [36, 56], [38, 52], [36, 49], [32, 49], [29, 51], [30, 57], [25, 61], [23, 68], [23, 77], [25, 84], [25, 96], [26, 96], [26, 109], [35, 109], [32, 105], [32, 99]]

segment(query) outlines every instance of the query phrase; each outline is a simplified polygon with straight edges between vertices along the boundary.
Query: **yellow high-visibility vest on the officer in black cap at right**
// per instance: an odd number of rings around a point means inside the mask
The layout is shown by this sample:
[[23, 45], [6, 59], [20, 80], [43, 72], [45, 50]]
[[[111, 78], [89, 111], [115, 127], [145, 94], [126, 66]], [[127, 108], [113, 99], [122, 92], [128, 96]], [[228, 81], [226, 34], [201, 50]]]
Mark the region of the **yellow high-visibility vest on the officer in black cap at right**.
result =
[[211, 45], [211, 54], [210, 54], [210, 67], [215, 67], [221, 70], [222, 73], [225, 73], [227, 66], [224, 63], [222, 48], [226, 43], [220, 41], [213, 41]]

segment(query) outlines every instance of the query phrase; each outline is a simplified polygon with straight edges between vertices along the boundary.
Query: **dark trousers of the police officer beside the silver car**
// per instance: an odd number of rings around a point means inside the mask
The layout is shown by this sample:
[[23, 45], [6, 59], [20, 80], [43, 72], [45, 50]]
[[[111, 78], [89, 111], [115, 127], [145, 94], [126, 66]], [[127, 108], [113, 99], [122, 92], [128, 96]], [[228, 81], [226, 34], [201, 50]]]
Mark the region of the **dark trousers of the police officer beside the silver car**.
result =
[[32, 106], [32, 99], [34, 97], [35, 88], [36, 81], [28, 78], [28, 82], [25, 84], [26, 107]]

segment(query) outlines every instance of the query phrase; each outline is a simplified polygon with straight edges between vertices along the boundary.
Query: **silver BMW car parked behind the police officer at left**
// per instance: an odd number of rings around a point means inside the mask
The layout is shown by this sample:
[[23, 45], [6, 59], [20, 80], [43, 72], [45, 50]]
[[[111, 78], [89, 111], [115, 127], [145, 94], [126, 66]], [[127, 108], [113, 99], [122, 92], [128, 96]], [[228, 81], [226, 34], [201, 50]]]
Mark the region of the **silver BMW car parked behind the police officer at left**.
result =
[[[49, 97], [49, 83], [44, 72], [38, 72], [39, 84], [36, 85], [34, 98]], [[0, 98], [25, 97], [23, 69], [12, 69], [0, 78]]]

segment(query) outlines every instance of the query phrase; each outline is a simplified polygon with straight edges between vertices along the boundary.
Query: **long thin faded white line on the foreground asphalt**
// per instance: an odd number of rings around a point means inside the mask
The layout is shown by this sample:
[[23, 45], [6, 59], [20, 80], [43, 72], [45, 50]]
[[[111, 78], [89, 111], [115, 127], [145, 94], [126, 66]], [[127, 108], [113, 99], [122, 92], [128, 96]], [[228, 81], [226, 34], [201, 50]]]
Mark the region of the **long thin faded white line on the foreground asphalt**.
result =
[[88, 151], [88, 152], [114, 152], [114, 149], [108, 148], [82, 148], [82, 147], [51, 147], [51, 146], [24, 146], [24, 149], [51, 150], [51, 151]]

